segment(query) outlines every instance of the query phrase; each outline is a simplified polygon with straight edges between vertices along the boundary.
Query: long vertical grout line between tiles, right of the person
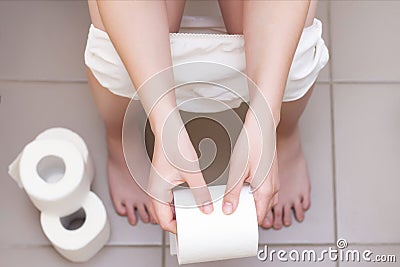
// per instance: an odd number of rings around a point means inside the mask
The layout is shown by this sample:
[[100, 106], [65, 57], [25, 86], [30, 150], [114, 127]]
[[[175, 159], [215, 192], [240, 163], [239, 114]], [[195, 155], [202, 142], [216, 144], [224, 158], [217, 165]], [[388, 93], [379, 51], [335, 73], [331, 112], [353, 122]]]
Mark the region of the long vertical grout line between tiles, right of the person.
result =
[[[330, 54], [332, 55], [333, 42], [332, 42], [332, 15], [331, 15], [332, 2], [328, 3], [328, 38], [330, 46]], [[333, 63], [332, 57], [329, 60], [329, 104], [331, 115], [331, 148], [332, 148], [332, 191], [333, 191], [333, 235], [334, 242], [338, 239], [338, 221], [337, 221], [337, 188], [336, 188], [336, 150], [335, 150], [335, 112], [334, 112], [334, 94], [333, 94]], [[339, 267], [339, 262], [335, 263]]]

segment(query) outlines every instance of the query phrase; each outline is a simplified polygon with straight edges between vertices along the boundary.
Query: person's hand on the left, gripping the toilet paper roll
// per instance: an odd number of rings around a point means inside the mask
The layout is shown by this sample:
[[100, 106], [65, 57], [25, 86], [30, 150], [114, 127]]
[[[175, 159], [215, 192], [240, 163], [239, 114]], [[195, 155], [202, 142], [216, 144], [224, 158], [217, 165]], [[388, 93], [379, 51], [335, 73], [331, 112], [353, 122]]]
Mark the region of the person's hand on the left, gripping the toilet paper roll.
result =
[[[211, 195], [200, 171], [197, 154], [187, 131], [184, 127], [181, 131], [175, 128], [175, 126], [169, 126], [168, 135], [155, 133], [148, 185], [156, 220], [163, 230], [171, 233], [176, 233], [176, 220], [171, 205], [173, 187], [187, 182], [200, 210], [206, 214], [213, 211]], [[170, 131], [173, 133], [171, 134]], [[173, 141], [173, 136], [178, 137], [176, 142]]]

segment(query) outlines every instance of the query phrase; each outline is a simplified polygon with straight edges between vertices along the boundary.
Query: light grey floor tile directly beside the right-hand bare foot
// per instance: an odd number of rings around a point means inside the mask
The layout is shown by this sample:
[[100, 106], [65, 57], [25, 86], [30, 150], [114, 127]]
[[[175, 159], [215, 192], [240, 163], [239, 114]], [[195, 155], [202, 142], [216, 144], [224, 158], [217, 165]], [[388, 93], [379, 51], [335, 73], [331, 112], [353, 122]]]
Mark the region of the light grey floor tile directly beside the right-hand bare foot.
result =
[[[334, 242], [332, 142], [329, 86], [318, 84], [301, 119], [300, 129], [311, 179], [311, 208], [303, 223], [261, 230], [261, 243]], [[292, 216], [293, 217], [293, 216]]]

